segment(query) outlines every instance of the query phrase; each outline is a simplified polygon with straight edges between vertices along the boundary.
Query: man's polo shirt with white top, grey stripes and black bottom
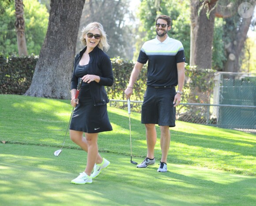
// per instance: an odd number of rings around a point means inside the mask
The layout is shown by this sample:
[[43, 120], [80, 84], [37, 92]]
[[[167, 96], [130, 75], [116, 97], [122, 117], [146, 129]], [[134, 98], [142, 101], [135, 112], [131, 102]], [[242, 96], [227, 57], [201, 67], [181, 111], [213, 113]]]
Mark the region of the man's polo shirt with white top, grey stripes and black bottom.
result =
[[177, 63], [185, 62], [184, 48], [181, 41], [167, 36], [161, 42], [157, 39], [146, 41], [137, 60], [147, 66], [148, 86], [177, 86]]

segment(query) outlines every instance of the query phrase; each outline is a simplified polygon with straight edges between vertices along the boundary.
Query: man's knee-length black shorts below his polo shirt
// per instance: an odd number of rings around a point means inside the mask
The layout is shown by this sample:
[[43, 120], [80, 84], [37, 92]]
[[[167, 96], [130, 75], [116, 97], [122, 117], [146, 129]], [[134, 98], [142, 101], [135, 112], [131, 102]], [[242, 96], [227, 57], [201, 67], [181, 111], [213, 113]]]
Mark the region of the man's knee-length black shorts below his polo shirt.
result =
[[173, 107], [175, 94], [174, 86], [171, 88], [147, 86], [142, 104], [141, 123], [175, 127], [176, 108]]

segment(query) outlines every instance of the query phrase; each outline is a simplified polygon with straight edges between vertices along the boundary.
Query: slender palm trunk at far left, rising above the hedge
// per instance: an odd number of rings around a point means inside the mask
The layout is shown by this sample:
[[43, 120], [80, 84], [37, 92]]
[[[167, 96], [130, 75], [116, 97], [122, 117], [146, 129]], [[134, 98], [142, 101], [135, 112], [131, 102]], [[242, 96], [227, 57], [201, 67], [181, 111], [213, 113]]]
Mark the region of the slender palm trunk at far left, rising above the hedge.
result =
[[15, 0], [15, 29], [17, 32], [17, 45], [19, 56], [27, 56], [26, 38], [25, 38], [25, 21], [24, 21], [24, 9], [23, 0]]

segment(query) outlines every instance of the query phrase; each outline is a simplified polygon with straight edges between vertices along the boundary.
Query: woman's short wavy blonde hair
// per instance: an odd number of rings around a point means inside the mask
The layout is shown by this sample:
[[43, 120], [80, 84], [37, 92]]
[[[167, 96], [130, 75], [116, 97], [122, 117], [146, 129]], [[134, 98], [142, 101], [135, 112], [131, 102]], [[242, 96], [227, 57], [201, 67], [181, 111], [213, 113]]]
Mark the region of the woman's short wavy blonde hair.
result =
[[107, 35], [105, 34], [105, 31], [103, 30], [103, 26], [101, 23], [99, 22], [91, 22], [89, 23], [86, 27], [83, 27], [82, 29], [82, 34], [81, 34], [81, 37], [80, 37], [80, 41], [82, 43], [82, 45], [86, 46], [86, 39], [84, 38], [84, 36], [90, 32], [91, 30], [94, 30], [94, 29], [98, 29], [100, 31], [100, 35], [101, 35], [101, 38], [100, 38], [100, 41], [98, 43], [98, 48], [100, 49], [105, 49], [105, 51], [108, 51], [109, 50], [109, 43], [108, 43], [108, 40], [107, 40]]

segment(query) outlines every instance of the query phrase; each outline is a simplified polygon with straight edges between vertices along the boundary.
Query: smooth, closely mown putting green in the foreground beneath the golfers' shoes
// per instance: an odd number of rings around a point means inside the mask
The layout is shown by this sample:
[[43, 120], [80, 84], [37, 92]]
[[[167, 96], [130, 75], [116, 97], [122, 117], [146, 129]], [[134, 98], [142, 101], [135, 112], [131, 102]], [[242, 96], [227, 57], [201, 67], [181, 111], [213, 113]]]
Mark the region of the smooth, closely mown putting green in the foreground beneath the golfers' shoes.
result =
[[75, 185], [70, 181], [86, 162], [81, 150], [65, 149], [55, 157], [53, 147], [1, 144], [0, 149], [1, 205], [243, 205], [245, 199], [253, 205], [255, 200], [252, 176], [174, 164], [160, 173], [158, 165], [137, 169], [128, 156], [106, 153], [108, 169], [93, 184]]

